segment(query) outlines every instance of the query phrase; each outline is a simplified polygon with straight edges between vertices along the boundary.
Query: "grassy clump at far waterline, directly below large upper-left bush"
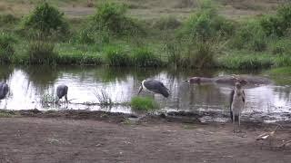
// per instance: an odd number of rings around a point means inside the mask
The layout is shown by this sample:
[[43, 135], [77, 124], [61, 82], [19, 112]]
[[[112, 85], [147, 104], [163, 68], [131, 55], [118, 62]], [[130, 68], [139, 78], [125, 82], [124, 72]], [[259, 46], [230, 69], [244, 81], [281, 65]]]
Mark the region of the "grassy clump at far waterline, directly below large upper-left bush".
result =
[[54, 52], [55, 44], [37, 41], [29, 44], [27, 54], [31, 64], [52, 64], [57, 57]]

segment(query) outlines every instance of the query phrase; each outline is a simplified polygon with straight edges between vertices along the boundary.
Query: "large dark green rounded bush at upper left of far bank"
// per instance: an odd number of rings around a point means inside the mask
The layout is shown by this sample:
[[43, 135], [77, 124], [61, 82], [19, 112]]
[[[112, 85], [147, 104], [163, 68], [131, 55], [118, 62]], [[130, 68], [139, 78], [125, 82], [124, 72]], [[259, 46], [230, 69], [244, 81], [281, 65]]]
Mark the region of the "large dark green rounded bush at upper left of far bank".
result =
[[57, 8], [45, 2], [37, 5], [35, 10], [25, 17], [24, 27], [35, 29], [45, 35], [68, 34], [68, 24], [63, 15]]

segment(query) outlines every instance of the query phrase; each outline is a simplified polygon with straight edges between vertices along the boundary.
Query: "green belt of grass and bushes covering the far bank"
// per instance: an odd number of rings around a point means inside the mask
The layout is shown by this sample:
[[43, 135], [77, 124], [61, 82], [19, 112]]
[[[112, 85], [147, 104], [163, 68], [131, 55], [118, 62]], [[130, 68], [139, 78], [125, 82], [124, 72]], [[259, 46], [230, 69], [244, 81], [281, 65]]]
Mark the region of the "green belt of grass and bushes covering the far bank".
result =
[[128, 14], [128, 7], [146, 7], [138, 3], [98, 3], [94, 14], [68, 19], [56, 1], [46, 2], [22, 18], [0, 14], [0, 62], [193, 69], [291, 65], [290, 4], [276, 14], [235, 21], [219, 14], [218, 3], [183, 1], [175, 7], [196, 7], [185, 19], [163, 15], [151, 21]]

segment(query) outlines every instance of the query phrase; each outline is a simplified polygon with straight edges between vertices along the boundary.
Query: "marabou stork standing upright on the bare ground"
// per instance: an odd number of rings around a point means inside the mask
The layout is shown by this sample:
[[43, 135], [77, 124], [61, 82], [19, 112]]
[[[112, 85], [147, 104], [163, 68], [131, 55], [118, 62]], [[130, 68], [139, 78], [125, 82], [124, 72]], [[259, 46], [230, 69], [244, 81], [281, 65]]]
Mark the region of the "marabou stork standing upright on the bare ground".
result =
[[230, 95], [230, 118], [233, 122], [234, 132], [236, 132], [236, 120], [238, 121], [238, 131], [240, 131], [240, 116], [245, 107], [245, 91], [240, 82], [236, 82], [236, 87]]

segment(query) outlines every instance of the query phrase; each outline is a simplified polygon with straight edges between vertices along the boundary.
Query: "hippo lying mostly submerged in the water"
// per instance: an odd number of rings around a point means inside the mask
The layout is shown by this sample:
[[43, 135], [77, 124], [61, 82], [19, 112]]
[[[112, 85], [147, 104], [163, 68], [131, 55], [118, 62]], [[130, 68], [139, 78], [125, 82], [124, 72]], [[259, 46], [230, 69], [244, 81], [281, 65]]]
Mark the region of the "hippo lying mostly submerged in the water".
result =
[[218, 76], [214, 78], [206, 78], [206, 77], [193, 77], [186, 82], [190, 83], [216, 83], [216, 84], [226, 84], [226, 85], [235, 85], [236, 82], [240, 82], [242, 85], [250, 84], [250, 85], [261, 85], [261, 84], [271, 84], [267, 78], [260, 76], [252, 76], [252, 75], [236, 75], [236, 76]]

